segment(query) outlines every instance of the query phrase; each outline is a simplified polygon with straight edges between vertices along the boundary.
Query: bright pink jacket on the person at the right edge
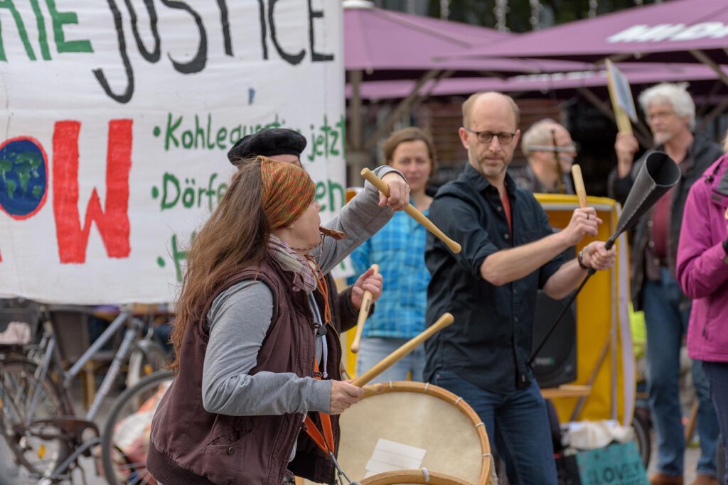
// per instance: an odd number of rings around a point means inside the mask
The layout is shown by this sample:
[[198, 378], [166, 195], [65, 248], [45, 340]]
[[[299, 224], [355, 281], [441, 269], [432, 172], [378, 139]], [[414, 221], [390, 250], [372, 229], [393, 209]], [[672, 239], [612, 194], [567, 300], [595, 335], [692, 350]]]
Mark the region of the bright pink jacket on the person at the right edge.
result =
[[678, 244], [678, 281], [693, 299], [688, 353], [702, 361], [728, 362], [728, 178], [719, 191], [727, 167], [721, 156], [690, 188]]

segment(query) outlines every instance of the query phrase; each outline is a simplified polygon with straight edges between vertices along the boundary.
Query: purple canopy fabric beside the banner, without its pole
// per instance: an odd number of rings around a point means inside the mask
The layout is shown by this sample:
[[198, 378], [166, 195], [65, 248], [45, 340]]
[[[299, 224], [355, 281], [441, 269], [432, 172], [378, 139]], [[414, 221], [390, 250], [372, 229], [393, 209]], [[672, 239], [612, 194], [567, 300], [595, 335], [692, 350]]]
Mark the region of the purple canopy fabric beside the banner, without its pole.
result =
[[[361, 70], [365, 79], [393, 79], [416, 74], [405, 71], [486, 71], [539, 73], [584, 68], [579, 63], [548, 60], [434, 60], [475, 45], [518, 37], [466, 23], [378, 9], [370, 1], [344, 2], [344, 66]], [[381, 71], [387, 71], [383, 73]]]

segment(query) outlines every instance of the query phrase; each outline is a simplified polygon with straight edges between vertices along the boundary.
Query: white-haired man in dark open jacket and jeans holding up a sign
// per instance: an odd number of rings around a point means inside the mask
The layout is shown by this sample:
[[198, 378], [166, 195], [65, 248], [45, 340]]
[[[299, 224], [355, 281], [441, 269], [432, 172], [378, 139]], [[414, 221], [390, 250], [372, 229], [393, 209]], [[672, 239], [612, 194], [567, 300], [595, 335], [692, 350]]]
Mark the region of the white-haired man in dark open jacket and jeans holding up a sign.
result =
[[[657, 473], [652, 485], [683, 484], [685, 438], [679, 400], [680, 347], [687, 330], [690, 300], [676, 279], [676, 254], [688, 191], [705, 169], [721, 156], [718, 144], [694, 133], [695, 104], [681, 84], [658, 84], [646, 89], [639, 103], [646, 113], [657, 150], [678, 163], [682, 177], [657, 201], [634, 229], [632, 240], [632, 300], [644, 310], [647, 326], [647, 390], [657, 430]], [[609, 195], [624, 204], [644, 157], [634, 161], [638, 143], [620, 133], [614, 143], [617, 167], [609, 175]], [[700, 460], [693, 485], [716, 483], [716, 411], [708, 382], [693, 362], [692, 377], [699, 399], [697, 433]]]

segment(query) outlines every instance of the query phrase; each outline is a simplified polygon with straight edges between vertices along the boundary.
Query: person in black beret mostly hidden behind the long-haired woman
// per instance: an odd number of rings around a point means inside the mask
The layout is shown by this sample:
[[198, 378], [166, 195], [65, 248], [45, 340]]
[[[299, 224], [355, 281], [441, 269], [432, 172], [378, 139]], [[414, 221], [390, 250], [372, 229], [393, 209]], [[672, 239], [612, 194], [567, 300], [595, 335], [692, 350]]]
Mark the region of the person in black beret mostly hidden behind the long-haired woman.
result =
[[[306, 148], [306, 137], [288, 128], [264, 128], [252, 135], [245, 135], [228, 151], [228, 160], [238, 167], [246, 160], [256, 156], [266, 156], [277, 161], [285, 161], [304, 168], [301, 164], [301, 153]], [[343, 292], [336, 291], [336, 281], [331, 273], [324, 278], [328, 287], [328, 304], [331, 307], [331, 317], [336, 332], [346, 332], [357, 324], [359, 308], [362, 304], [364, 292], [372, 294], [372, 302], [381, 296], [381, 275], [373, 271], [361, 272], [361, 276]], [[370, 315], [374, 305], [370, 308]]]

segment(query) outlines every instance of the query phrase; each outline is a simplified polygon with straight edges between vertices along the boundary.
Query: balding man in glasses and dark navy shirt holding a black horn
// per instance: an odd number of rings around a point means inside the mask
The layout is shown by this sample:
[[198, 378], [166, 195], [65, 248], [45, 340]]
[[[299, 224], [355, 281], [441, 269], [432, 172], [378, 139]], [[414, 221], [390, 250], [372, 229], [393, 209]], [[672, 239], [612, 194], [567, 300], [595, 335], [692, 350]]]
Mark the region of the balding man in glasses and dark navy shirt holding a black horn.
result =
[[430, 206], [432, 222], [462, 244], [462, 252], [453, 254], [430, 234], [425, 248], [432, 273], [427, 324], [446, 311], [455, 323], [427, 340], [424, 377], [478, 412], [505, 458], [510, 483], [555, 485], [545, 402], [526, 364], [536, 292], [563, 298], [589, 267], [609, 268], [615, 253], [595, 241], [563, 262], [561, 252], [596, 236], [596, 211], [576, 209], [569, 225], [553, 233], [534, 196], [506, 172], [521, 135], [513, 99], [478, 93], [462, 108], [459, 137], [469, 163]]

